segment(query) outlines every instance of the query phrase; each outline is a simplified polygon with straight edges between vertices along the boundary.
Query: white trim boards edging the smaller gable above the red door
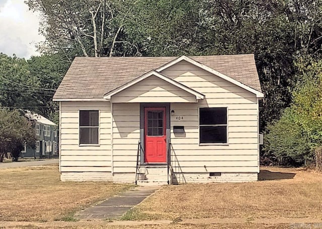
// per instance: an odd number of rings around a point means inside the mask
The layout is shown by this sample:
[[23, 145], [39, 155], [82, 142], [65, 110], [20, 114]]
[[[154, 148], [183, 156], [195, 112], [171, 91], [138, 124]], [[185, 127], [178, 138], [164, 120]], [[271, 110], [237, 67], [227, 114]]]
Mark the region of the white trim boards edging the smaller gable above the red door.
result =
[[144, 80], [144, 79], [146, 79], [146, 78], [148, 78], [150, 76], [156, 76], [156, 77], [158, 77], [158, 78], [160, 78], [162, 80], [165, 80], [168, 83], [170, 83], [170, 84], [172, 84], [172, 85], [174, 85], [176, 87], [179, 87], [180, 89], [182, 89], [182, 90], [184, 90], [184, 91], [196, 96], [196, 99], [204, 99], [205, 98], [204, 94], [201, 94], [198, 91], [196, 91], [196, 90], [194, 90], [194, 89], [192, 89], [190, 87], [187, 87], [186, 85], [183, 85], [180, 82], [178, 82], [176, 80], [173, 80], [173, 79], [169, 78], [168, 76], [166, 76], [166, 75], [164, 75], [164, 74], [162, 74], [160, 72], [157, 72], [155, 70], [151, 70], [151, 71], [149, 71], [149, 72], [137, 77], [136, 79], [131, 80], [130, 82], [128, 82], [128, 83], [126, 83], [126, 84], [124, 84], [124, 85], [122, 85], [122, 86], [120, 86], [120, 87], [118, 87], [118, 88], [106, 93], [104, 95], [104, 98], [110, 100], [111, 96], [113, 96], [114, 94], [117, 94], [118, 92], [120, 92], [122, 90], [125, 90], [126, 88], [128, 88], [128, 87], [130, 87], [130, 86], [132, 86], [132, 85], [134, 85], [134, 84], [136, 84], [136, 83], [138, 83], [138, 82], [140, 82], [140, 81], [142, 81], [142, 80]]

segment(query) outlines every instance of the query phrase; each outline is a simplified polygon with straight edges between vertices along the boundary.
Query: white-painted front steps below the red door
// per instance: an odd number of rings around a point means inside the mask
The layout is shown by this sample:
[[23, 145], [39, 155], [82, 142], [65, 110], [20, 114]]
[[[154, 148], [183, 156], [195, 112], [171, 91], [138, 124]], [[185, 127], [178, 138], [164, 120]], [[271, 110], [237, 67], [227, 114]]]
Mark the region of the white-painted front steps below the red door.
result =
[[[169, 171], [169, 182], [171, 173]], [[168, 184], [167, 166], [141, 166], [138, 169], [137, 185], [166, 185]]]

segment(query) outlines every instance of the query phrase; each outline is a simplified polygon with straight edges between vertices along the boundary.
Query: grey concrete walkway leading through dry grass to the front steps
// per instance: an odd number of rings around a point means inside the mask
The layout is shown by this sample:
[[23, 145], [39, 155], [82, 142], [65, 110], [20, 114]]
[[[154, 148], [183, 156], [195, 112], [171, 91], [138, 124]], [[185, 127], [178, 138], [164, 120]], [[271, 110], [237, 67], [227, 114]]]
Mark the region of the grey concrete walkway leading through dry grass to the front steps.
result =
[[122, 216], [134, 205], [142, 202], [159, 188], [160, 186], [135, 187], [127, 192], [121, 193], [119, 196], [109, 198], [102, 203], [80, 211], [74, 216], [77, 219], [83, 220], [115, 219]]

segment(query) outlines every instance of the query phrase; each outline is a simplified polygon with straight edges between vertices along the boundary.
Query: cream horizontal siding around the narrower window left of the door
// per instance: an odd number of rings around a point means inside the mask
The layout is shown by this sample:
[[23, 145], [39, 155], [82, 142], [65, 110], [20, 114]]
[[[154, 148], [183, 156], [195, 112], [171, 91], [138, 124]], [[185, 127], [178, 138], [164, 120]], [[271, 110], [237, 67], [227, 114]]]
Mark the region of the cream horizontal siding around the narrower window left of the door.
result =
[[[61, 172], [92, 174], [111, 173], [111, 128], [110, 102], [61, 102], [60, 112], [60, 169]], [[99, 146], [79, 146], [79, 110], [99, 110]], [[82, 176], [82, 175], [80, 175]], [[64, 177], [64, 175], [62, 175]], [[90, 177], [87, 177], [89, 180]], [[65, 178], [63, 178], [65, 179]], [[70, 177], [68, 178], [70, 179]], [[78, 179], [75, 177], [75, 180]]]

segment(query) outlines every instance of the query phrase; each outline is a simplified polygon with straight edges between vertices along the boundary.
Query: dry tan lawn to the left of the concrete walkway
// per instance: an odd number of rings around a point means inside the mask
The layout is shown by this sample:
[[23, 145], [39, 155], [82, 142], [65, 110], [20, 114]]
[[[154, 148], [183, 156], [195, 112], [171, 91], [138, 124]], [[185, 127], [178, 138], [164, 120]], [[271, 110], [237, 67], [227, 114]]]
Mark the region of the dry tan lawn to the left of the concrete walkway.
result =
[[111, 182], [61, 182], [57, 165], [2, 169], [0, 221], [72, 220], [73, 212], [130, 187]]

